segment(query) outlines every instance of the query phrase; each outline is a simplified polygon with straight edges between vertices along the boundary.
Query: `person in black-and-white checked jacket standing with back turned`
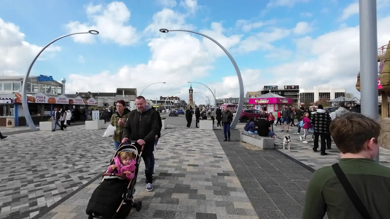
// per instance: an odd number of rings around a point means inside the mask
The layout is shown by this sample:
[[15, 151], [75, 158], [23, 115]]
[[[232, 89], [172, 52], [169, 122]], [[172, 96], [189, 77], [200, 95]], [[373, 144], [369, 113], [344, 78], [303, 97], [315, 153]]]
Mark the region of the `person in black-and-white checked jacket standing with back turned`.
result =
[[318, 140], [321, 136], [321, 155], [328, 155], [326, 150], [326, 138], [328, 137], [329, 124], [332, 122], [330, 115], [325, 112], [324, 107], [319, 104], [317, 112], [312, 115], [310, 123], [314, 127], [314, 147], [313, 151], [317, 152], [318, 149]]

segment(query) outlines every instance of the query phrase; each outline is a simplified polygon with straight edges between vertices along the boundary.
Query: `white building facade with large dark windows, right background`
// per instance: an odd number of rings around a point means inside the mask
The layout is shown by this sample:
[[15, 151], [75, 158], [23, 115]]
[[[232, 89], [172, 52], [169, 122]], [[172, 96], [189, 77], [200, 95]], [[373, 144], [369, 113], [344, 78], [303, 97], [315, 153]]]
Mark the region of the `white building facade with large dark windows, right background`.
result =
[[300, 88], [299, 94], [300, 103], [314, 103], [321, 98], [332, 100], [337, 97], [345, 97], [346, 89], [332, 87]]

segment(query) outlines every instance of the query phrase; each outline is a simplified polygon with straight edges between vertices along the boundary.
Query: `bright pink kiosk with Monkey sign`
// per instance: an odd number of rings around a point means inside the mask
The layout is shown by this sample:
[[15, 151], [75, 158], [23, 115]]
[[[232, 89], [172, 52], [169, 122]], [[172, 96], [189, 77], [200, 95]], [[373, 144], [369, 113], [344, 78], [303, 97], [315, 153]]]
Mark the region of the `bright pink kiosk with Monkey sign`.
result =
[[275, 112], [278, 109], [282, 110], [283, 105], [292, 104], [293, 99], [282, 97], [277, 94], [267, 93], [257, 98], [250, 98], [249, 104], [253, 104], [253, 108], [257, 110], [263, 110], [266, 108], [266, 112]]

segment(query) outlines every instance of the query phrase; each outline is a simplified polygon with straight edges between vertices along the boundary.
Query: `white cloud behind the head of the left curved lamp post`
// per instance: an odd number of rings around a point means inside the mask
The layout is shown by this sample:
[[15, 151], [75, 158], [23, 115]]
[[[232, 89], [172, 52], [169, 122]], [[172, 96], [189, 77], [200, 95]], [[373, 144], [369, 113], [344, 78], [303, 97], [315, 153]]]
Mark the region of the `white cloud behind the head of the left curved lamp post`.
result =
[[91, 43], [96, 37], [102, 41], [113, 41], [123, 46], [129, 46], [138, 41], [137, 30], [126, 25], [130, 19], [130, 11], [123, 2], [111, 2], [108, 5], [89, 4], [85, 9], [89, 23], [72, 21], [66, 25], [69, 33], [97, 30], [99, 35], [78, 34], [72, 36], [75, 42]]

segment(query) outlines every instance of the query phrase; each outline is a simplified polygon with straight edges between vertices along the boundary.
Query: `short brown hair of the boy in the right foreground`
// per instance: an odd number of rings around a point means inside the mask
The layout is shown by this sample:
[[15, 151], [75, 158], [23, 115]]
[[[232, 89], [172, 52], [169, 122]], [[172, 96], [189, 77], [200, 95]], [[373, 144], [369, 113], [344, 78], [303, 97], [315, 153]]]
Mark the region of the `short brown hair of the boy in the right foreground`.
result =
[[341, 153], [356, 154], [363, 150], [367, 140], [375, 138], [378, 143], [381, 125], [361, 113], [348, 112], [335, 118], [329, 129]]

